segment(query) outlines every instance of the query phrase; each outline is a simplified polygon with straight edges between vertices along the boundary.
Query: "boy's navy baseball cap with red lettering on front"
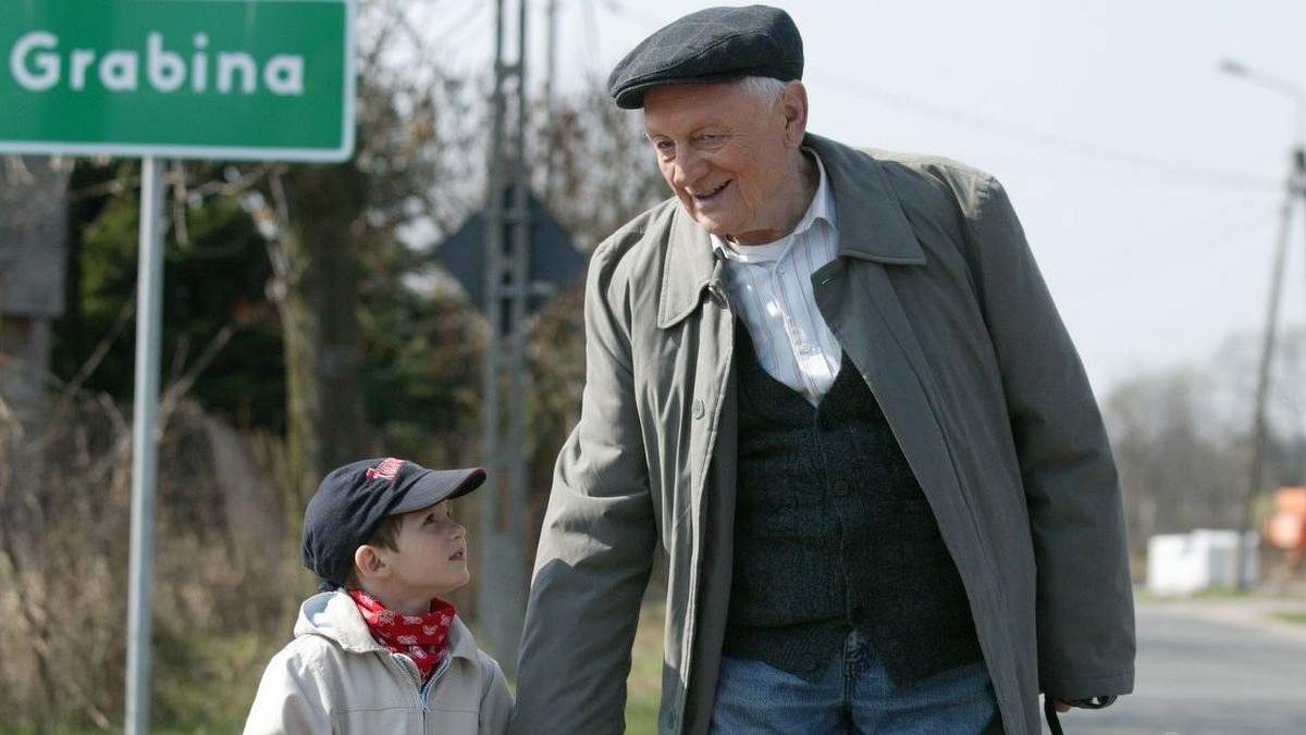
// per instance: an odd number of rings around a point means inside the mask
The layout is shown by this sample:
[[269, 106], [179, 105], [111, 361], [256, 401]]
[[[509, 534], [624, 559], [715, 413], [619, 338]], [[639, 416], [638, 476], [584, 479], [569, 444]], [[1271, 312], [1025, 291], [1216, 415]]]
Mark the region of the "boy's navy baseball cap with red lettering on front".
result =
[[387, 516], [398, 516], [481, 487], [481, 467], [428, 470], [396, 457], [360, 460], [332, 470], [304, 509], [303, 561], [333, 586], [343, 586], [354, 552]]

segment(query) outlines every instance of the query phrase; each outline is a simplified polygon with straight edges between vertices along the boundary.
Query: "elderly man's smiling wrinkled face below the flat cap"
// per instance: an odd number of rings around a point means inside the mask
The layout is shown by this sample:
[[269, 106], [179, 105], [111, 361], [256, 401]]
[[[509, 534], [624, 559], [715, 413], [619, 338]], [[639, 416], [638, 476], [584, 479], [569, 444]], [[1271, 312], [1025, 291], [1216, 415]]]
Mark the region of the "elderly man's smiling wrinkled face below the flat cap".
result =
[[662, 178], [707, 231], [739, 244], [788, 234], [778, 202], [795, 174], [790, 154], [803, 132], [790, 91], [776, 102], [737, 82], [645, 93], [644, 131]]

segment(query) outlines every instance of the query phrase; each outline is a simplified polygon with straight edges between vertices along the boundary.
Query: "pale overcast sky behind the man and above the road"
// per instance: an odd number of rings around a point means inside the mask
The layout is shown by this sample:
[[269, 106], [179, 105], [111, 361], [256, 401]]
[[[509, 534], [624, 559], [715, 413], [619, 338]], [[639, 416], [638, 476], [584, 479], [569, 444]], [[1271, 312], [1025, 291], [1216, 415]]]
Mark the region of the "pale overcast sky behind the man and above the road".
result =
[[[645, 35], [709, 4], [558, 0], [559, 86], [606, 78]], [[1229, 336], [1263, 329], [1306, 91], [1220, 64], [1306, 90], [1306, 1], [776, 4], [803, 35], [811, 132], [947, 155], [1003, 181], [1100, 392], [1211, 363]], [[483, 7], [445, 14], [464, 23], [457, 37], [491, 34]], [[532, 0], [533, 59], [546, 7]], [[1286, 328], [1306, 322], [1303, 209]]]

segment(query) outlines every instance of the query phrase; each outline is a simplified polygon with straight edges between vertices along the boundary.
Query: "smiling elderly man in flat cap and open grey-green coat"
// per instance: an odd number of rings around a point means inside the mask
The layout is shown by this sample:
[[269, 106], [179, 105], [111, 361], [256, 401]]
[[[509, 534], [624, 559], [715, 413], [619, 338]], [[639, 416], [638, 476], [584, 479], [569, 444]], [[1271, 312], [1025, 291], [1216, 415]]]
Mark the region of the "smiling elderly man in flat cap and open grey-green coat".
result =
[[667, 564], [658, 731], [1040, 731], [1132, 688], [1122, 504], [1002, 187], [807, 134], [784, 12], [712, 8], [609, 80], [675, 193], [594, 251], [516, 735], [623, 730]]

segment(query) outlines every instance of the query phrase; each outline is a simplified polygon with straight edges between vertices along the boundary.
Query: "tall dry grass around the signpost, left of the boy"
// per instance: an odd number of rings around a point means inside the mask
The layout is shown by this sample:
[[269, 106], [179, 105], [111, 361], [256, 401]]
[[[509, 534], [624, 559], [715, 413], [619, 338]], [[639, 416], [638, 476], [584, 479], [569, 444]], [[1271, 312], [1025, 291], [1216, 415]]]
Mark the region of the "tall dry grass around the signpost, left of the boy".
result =
[[[20, 469], [0, 474], [0, 732], [121, 727], [129, 422], [97, 397], [59, 409], [39, 437], [0, 431], [0, 465]], [[299, 591], [286, 582], [269, 480], [278, 450], [242, 437], [246, 471], [232, 490], [219, 478], [230, 457], [215, 466], [221, 427], [171, 409], [155, 501], [151, 719], [157, 731], [236, 732]], [[268, 495], [257, 513], [232, 514], [235, 493]], [[243, 542], [256, 527], [261, 538]]]

